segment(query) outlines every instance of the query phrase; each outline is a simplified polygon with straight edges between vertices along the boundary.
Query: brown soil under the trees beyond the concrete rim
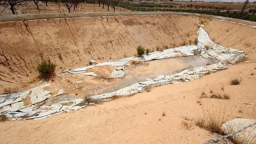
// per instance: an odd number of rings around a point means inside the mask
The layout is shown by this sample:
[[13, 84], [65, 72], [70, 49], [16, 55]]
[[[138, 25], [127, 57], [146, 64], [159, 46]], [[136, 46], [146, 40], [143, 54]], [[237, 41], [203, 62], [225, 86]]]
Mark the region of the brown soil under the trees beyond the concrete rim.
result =
[[[16, 5], [17, 14], [38, 14], [38, 10], [33, 1], [29, 1], [26, 5]], [[39, 1], [38, 3], [40, 14], [44, 13], [59, 13], [59, 4], [55, 2], [47, 2], [47, 7], [45, 3]], [[1, 12], [4, 7], [0, 6]], [[68, 13], [68, 9], [60, 3], [60, 10], [62, 13]], [[76, 10], [72, 7], [71, 12], [94, 12], [94, 5], [91, 3], [79, 3]], [[120, 11], [120, 8], [116, 8], [116, 11]], [[121, 8], [121, 11], [127, 11], [126, 9]], [[107, 11], [107, 5], [104, 5], [104, 9], [102, 8], [102, 4], [99, 7], [99, 4], [95, 4], [95, 12], [114, 12], [114, 9], [109, 6], [109, 11]], [[2, 15], [4, 14], [12, 14], [12, 11], [7, 7]]]

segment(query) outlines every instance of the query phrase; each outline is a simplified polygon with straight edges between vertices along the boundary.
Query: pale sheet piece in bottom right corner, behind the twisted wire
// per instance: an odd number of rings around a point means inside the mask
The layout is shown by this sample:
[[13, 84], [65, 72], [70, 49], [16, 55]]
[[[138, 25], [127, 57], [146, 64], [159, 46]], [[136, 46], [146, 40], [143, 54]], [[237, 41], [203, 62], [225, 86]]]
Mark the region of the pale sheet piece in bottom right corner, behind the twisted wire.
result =
[[[234, 118], [228, 120], [221, 126], [221, 129], [230, 134], [232, 132], [238, 131], [247, 125], [253, 124], [256, 120], [251, 120], [247, 118]], [[242, 140], [245, 144], [256, 144], [256, 125], [249, 127], [242, 132], [237, 133], [235, 139]]]

